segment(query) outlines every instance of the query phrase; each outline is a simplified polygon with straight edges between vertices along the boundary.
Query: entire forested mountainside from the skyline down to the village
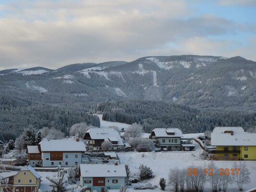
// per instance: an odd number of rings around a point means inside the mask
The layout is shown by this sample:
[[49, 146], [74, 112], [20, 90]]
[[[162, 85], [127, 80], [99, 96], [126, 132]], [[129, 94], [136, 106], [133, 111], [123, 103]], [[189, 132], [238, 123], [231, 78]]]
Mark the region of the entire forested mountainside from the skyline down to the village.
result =
[[[57, 70], [3, 70], [0, 140], [15, 139], [28, 125], [55, 127], [67, 135], [73, 123], [98, 126], [98, 117], [87, 113], [95, 109], [106, 120], [141, 122], [146, 132], [166, 126], [184, 132], [216, 125], [249, 128], [256, 124], [255, 82], [256, 62], [241, 57], [151, 56], [132, 62], [77, 63]], [[108, 103], [130, 100], [131, 108]], [[101, 106], [107, 102], [114, 111], [96, 108], [99, 102]], [[179, 115], [173, 119], [170, 112]]]

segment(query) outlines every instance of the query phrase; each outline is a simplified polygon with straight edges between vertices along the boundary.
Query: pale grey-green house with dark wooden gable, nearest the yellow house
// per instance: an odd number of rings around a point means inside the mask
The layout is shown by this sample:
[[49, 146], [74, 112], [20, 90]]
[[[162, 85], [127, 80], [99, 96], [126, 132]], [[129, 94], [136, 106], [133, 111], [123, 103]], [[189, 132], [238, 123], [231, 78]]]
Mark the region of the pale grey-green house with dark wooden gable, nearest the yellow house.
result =
[[181, 137], [183, 134], [181, 130], [177, 128], [171, 129], [159, 129], [156, 128], [151, 132], [149, 138], [155, 139], [156, 147], [167, 148], [168, 151], [181, 150]]

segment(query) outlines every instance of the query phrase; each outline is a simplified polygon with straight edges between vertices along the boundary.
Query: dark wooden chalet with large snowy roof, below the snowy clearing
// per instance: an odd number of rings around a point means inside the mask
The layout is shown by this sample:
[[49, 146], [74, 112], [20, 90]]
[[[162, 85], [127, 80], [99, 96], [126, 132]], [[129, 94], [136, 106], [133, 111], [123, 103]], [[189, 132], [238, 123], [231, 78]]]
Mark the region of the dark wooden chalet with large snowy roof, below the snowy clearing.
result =
[[89, 147], [92, 146], [93, 150], [101, 150], [101, 144], [104, 141], [112, 143], [112, 149], [123, 148], [124, 144], [119, 133], [113, 128], [93, 128], [85, 132], [85, 140], [88, 140]]

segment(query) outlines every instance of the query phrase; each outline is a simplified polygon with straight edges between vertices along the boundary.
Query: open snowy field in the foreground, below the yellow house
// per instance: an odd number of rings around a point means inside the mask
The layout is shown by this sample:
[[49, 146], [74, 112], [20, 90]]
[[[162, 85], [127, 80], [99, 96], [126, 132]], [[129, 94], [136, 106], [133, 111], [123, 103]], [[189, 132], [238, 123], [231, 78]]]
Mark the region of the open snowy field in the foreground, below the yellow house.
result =
[[[131, 176], [134, 174], [137, 175], [140, 164], [144, 164], [147, 167], [150, 167], [153, 171], [154, 178], [145, 180], [143, 183], [132, 184], [129, 186], [129, 192], [135, 192], [133, 189], [134, 186], [137, 185], [145, 185], [146, 182], [150, 182], [153, 186], [158, 185], [158, 188], [154, 190], [154, 192], [162, 192], [159, 186], [160, 178], [167, 179], [168, 182], [168, 174], [170, 172], [170, 168], [196, 168], [198, 166], [202, 166], [203, 168], [211, 168], [211, 161], [201, 160], [200, 154], [202, 150], [196, 145], [195, 151], [171, 151], [171, 152], [147, 152], [147, 153], [137, 153], [137, 152], [129, 152], [129, 153], [118, 153], [120, 157], [120, 161], [123, 164], [127, 164], [131, 171]], [[250, 170], [256, 169], [256, 161], [248, 161], [248, 167]], [[234, 161], [214, 161], [214, 164], [218, 168], [234, 168]], [[193, 177], [193, 176], [191, 176]], [[210, 177], [210, 176], [208, 176]], [[235, 176], [234, 176], [235, 177]], [[244, 190], [251, 189], [255, 187], [255, 178], [256, 171], [251, 171], [251, 183], [244, 184]], [[173, 191], [172, 186], [168, 185], [166, 187], [166, 191]], [[205, 185], [205, 191], [211, 191], [211, 186], [209, 183]], [[143, 192], [152, 192], [152, 190], [143, 190]], [[227, 192], [239, 192], [238, 187], [234, 184], [229, 186]]]

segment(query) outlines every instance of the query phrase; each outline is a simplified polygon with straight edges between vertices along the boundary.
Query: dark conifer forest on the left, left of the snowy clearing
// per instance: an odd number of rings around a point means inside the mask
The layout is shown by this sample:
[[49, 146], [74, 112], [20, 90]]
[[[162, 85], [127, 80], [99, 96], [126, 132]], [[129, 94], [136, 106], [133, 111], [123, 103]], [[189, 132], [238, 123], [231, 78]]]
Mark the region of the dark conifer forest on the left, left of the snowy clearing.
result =
[[[9, 101], [0, 96], [0, 140], [8, 142], [20, 135], [28, 126], [35, 129], [55, 128], [69, 135], [69, 128], [80, 122], [100, 126], [98, 116], [87, 113], [87, 110], [64, 108], [48, 104], [29, 105], [25, 101], [11, 98]], [[12, 104], [12, 101], [13, 102]], [[20, 104], [20, 105], [19, 105]]]

